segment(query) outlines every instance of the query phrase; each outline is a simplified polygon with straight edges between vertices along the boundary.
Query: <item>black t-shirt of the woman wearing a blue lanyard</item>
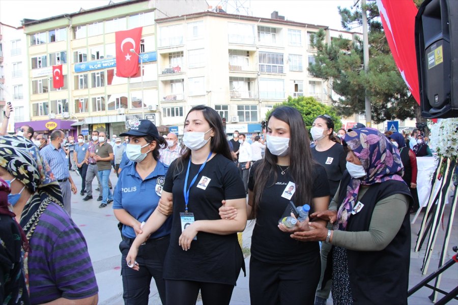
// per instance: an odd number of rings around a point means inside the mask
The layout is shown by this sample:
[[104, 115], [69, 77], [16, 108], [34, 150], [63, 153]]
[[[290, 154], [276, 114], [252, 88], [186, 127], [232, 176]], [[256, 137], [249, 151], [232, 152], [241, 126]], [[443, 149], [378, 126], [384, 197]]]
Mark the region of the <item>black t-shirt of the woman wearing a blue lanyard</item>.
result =
[[[183, 186], [188, 160], [183, 162], [181, 172], [176, 170], [179, 160], [170, 164], [163, 190], [173, 193], [174, 218], [170, 233], [170, 245], [164, 262], [164, 279], [190, 280], [235, 285], [243, 264], [243, 254], [237, 234], [218, 235], [198, 232], [197, 240], [191, 242], [188, 251], [178, 245], [181, 235], [180, 212], [185, 211]], [[197, 174], [201, 164], [192, 164], [188, 185]], [[204, 182], [203, 177], [207, 180]], [[200, 184], [200, 185], [199, 185]], [[207, 185], [204, 189], [202, 185]], [[245, 189], [239, 170], [234, 162], [216, 155], [207, 162], [189, 191], [188, 212], [197, 220], [218, 220], [221, 200], [245, 198]]]

